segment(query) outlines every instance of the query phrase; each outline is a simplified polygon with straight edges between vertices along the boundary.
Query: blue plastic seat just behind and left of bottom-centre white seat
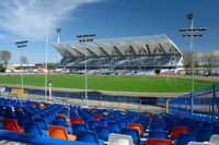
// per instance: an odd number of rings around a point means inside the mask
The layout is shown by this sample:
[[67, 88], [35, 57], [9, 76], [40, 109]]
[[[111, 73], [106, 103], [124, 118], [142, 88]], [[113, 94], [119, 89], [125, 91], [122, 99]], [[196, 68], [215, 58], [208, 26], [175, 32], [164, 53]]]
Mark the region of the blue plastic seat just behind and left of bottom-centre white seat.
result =
[[96, 126], [96, 134], [99, 138], [103, 141], [108, 141], [108, 136], [112, 133], [112, 130], [110, 126]]

